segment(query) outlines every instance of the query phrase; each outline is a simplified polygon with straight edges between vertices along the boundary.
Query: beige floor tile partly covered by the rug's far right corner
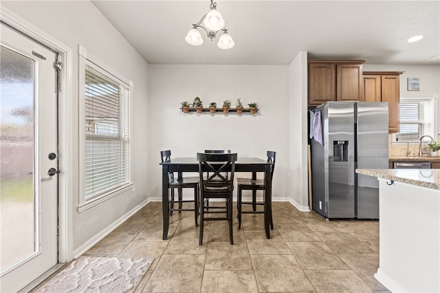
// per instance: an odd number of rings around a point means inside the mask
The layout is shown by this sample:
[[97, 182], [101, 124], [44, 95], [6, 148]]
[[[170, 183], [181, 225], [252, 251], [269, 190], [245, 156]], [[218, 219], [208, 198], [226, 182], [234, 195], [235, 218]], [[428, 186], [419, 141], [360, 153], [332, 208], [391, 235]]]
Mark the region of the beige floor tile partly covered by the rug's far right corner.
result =
[[164, 250], [168, 246], [167, 242], [135, 242], [132, 241], [129, 245], [118, 254], [118, 257], [144, 257], [154, 259], [148, 270], [153, 270], [157, 265]]

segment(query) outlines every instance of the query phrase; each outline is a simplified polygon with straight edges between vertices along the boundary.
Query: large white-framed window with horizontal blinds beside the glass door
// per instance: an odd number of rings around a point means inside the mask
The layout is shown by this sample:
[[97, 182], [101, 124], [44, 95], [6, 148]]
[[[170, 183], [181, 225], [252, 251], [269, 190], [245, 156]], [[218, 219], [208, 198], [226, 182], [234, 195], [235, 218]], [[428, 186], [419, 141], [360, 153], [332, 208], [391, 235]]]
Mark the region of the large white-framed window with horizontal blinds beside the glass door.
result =
[[[83, 76], [82, 76], [83, 75]], [[85, 210], [131, 183], [131, 82], [80, 47], [80, 205]], [[81, 124], [80, 124], [81, 125]]]

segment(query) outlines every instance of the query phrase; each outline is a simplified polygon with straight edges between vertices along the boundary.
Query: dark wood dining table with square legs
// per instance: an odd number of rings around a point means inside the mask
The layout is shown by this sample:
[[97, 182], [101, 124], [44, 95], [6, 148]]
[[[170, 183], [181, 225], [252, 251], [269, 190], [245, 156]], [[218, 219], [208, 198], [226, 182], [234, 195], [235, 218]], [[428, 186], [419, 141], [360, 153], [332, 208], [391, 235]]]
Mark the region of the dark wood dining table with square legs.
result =
[[[162, 239], [168, 237], [170, 226], [170, 213], [168, 203], [168, 173], [177, 172], [181, 177], [182, 173], [199, 172], [199, 162], [196, 158], [173, 158], [170, 161], [160, 163], [162, 165], [162, 215], [164, 220], [164, 234]], [[260, 158], [238, 158], [235, 162], [235, 172], [252, 172], [252, 178], [256, 178], [256, 173], [264, 173], [265, 180], [265, 210], [264, 226], [267, 239], [270, 239], [270, 219], [272, 210], [272, 180], [270, 169], [272, 162], [267, 162]]]

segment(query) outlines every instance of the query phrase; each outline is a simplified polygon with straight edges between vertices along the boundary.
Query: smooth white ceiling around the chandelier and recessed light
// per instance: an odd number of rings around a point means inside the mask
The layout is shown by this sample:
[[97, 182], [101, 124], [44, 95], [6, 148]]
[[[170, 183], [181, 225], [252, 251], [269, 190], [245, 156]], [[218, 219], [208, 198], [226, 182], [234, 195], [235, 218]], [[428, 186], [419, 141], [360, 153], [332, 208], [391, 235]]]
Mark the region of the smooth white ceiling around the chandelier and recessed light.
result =
[[[209, 0], [92, 2], [149, 64], [288, 65], [301, 51], [369, 64], [440, 64], [438, 0], [217, 0], [235, 42], [230, 50], [203, 30], [202, 45], [184, 40], [210, 10]], [[406, 42], [417, 34], [425, 37]]]

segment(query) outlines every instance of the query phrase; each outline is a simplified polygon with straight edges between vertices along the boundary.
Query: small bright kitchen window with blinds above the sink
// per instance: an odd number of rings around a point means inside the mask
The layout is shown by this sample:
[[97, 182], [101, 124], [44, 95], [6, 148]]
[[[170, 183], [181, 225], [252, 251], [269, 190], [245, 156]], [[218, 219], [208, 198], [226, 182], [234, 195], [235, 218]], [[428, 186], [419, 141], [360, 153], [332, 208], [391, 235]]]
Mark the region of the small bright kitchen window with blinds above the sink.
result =
[[418, 142], [423, 135], [434, 137], [436, 132], [437, 96], [404, 97], [400, 99], [400, 132], [396, 142]]

